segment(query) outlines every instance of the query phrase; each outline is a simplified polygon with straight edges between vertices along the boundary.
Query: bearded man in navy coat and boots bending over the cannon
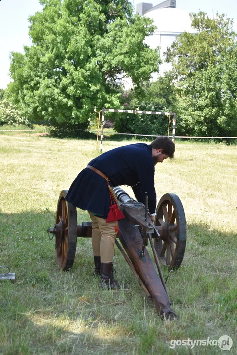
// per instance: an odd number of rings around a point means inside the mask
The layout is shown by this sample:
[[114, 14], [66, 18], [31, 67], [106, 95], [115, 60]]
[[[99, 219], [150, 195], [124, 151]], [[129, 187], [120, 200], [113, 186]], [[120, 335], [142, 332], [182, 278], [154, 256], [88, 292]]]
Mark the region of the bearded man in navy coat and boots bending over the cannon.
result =
[[148, 213], [154, 222], [154, 166], [173, 158], [174, 151], [174, 143], [166, 136], [156, 138], [150, 145], [138, 143], [115, 148], [93, 159], [72, 183], [66, 200], [90, 215], [95, 274], [100, 275], [102, 288], [121, 288], [112, 270], [117, 231], [115, 220], [106, 222], [113, 204], [108, 184], [131, 186], [137, 201], [144, 204], [147, 195]]

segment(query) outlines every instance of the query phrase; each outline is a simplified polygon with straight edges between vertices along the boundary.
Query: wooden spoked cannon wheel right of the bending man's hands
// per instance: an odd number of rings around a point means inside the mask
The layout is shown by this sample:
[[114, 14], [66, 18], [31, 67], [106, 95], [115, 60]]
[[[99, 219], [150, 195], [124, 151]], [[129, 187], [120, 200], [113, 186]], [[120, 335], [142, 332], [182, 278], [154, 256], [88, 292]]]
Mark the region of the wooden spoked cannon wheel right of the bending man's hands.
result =
[[186, 246], [186, 219], [183, 205], [175, 194], [161, 197], [156, 209], [155, 225], [160, 237], [154, 235], [154, 245], [161, 263], [169, 270], [178, 269]]

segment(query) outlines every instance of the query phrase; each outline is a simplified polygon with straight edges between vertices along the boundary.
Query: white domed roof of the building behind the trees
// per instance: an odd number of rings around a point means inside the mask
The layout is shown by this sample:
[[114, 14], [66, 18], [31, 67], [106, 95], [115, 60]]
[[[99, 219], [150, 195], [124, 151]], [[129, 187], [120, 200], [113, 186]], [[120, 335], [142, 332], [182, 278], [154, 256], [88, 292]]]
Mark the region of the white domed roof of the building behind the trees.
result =
[[191, 27], [189, 13], [178, 8], [158, 8], [148, 11], [143, 16], [153, 19], [154, 25], [157, 27], [155, 33], [182, 33], [184, 31], [195, 33]]

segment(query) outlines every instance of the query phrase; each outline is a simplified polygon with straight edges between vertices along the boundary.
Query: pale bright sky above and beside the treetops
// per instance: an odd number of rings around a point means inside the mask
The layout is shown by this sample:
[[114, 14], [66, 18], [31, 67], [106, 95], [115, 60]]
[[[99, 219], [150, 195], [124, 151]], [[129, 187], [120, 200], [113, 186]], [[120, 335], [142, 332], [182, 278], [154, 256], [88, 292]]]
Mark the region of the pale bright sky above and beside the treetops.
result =
[[[153, 6], [162, 0], [130, 0], [134, 7], [140, 2]], [[218, 12], [234, 19], [233, 29], [237, 32], [237, 0], [176, 0], [176, 7], [187, 12], [204, 11], [209, 17]], [[10, 52], [24, 53], [24, 45], [30, 46], [28, 17], [40, 11], [39, 0], [0, 0], [0, 88], [10, 82]]]

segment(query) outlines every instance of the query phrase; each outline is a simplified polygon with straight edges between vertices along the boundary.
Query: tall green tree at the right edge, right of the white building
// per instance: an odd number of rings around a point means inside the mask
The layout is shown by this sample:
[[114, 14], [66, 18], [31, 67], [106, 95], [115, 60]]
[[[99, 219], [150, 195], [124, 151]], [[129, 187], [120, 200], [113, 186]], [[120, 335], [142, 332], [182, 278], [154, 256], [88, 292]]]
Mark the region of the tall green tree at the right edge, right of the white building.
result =
[[232, 21], [192, 14], [196, 33], [183, 33], [167, 51], [179, 95], [177, 132], [229, 136], [237, 130], [237, 42]]

